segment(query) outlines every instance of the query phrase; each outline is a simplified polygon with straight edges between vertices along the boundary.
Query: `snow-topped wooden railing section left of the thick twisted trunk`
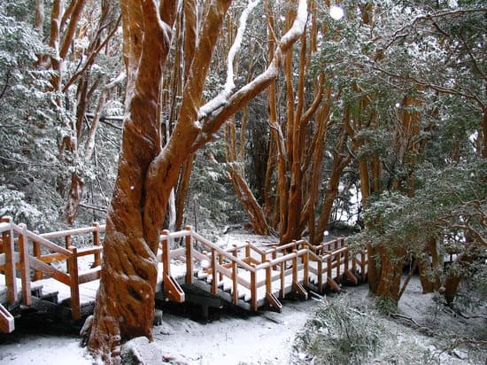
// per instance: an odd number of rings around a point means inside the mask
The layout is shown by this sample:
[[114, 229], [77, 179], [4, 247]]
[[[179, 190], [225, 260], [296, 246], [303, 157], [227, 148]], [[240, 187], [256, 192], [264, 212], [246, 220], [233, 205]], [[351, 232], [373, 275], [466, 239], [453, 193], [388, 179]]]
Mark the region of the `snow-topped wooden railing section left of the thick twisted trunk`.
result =
[[[67, 229], [46, 234], [36, 234], [27, 229], [25, 224], [16, 225], [8, 217], [2, 218], [0, 232], [2, 246], [0, 255], [4, 253], [4, 260], [0, 260], [0, 271], [4, 272], [7, 286], [7, 301], [15, 303], [19, 300], [16, 269], [20, 271], [21, 302], [26, 306], [32, 304], [30, 270], [34, 270], [32, 281], [50, 276], [60, 283], [70, 287], [70, 307], [73, 319], [81, 317], [80, 287], [81, 283], [88, 283], [100, 277], [102, 245], [100, 232], [104, 226], [95, 223], [93, 227], [82, 229]], [[93, 237], [88, 247], [78, 248], [72, 244], [72, 237], [90, 234]], [[65, 246], [53, 242], [63, 240]], [[15, 247], [18, 250], [15, 250]], [[92, 268], [86, 272], [79, 271], [78, 258], [92, 254], [94, 262]], [[53, 262], [66, 261], [66, 272], [50, 265]]]

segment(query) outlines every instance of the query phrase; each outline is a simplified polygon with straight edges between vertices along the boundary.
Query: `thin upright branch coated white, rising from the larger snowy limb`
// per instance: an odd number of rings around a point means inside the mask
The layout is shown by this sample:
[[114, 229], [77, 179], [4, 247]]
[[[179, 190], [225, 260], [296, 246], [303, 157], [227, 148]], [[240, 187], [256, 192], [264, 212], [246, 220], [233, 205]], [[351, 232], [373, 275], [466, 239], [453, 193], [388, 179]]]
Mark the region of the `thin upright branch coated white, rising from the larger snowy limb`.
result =
[[223, 85], [223, 89], [220, 91], [220, 93], [216, 97], [213, 97], [212, 100], [207, 102], [201, 108], [199, 108], [199, 111], [197, 113], [198, 120], [205, 118], [205, 116], [217, 110], [222, 105], [225, 105], [225, 103], [227, 103], [227, 99], [230, 96], [232, 90], [235, 89], [234, 60], [236, 57], [236, 53], [238, 52], [238, 50], [240, 50], [242, 46], [243, 34], [247, 27], [247, 19], [249, 18], [249, 15], [251, 14], [252, 10], [257, 6], [257, 4], [259, 4], [259, 2], [260, 0], [253, 0], [253, 1], [249, 0], [249, 4], [247, 4], [247, 7], [240, 15], [240, 22], [239, 22], [238, 30], [236, 32], [236, 38], [234, 43], [232, 44], [232, 47], [228, 51], [227, 80], [225, 82], [225, 85]]

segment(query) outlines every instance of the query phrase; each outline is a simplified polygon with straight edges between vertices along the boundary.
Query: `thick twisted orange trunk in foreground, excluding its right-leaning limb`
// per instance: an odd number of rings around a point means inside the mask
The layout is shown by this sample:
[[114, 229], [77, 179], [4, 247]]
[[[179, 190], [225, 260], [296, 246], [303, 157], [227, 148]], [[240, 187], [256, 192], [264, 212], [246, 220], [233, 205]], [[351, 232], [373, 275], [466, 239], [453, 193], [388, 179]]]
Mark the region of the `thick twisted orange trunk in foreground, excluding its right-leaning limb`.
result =
[[[119, 171], [106, 221], [103, 270], [89, 330], [90, 352], [102, 355], [107, 363], [120, 362], [121, 340], [151, 338], [157, 246], [149, 245], [143, 227], [143, 187], [151, 161], [160, 151], [158, 92], [170, 36], [159, 26], [153, 1], [123, 5], [124, 22], [128, 23], [124, 40], [142, 41], [142, 52], [138, 62], [136, 54], [126, 55], [128, 62], [138, 64], [138, 73], [131, 83], [134, 89], [128, 90], [129, 113], [124, 121]], [[141, 16], [131, 17], [130, 7], [140, 9]], [[142, 40], [134, 39], [130, 31], [137, 27], [143, 31]], [[160, 229], [161, 224], [162, 218], [154, 222], [154, 229]]]

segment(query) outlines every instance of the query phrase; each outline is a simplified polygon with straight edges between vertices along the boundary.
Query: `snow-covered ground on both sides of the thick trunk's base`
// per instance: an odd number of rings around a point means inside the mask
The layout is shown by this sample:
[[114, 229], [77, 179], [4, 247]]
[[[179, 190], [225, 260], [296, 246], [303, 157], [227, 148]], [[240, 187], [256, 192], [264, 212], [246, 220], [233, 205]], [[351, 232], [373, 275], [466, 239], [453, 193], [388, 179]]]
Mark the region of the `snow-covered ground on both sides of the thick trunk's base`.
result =
[[[286, 364], [290, 363], [296, 331], [316, 306], [314, 300], [287, 300], [282, 314], [222, 313], [206, 324], [165, 313], [163, 323], [153, 329], [151, 346], [188, 364]], [[79, 344], [80, 338], [74, 334], [4, 335], [0, 338], [0, 364], [91, 364]]]

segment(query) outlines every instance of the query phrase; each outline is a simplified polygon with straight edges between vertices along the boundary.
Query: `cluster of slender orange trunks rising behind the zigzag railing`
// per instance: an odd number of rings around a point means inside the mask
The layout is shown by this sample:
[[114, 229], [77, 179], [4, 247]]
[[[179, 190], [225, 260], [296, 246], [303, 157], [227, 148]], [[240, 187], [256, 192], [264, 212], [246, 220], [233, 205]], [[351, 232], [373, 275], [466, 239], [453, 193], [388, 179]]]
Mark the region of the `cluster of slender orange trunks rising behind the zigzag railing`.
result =
[[[319, 27], [315, 1], [310, 2], [312, 20], [306, 34], [301, 36], [297, 60], [292, 53], [284, 61], [284, 86], [272, 82], [267, 93], [266, 115], [270, 136], [266, 151], [255, 154], [266, 156], [266, 173], [257, 181], [259, 196], [256, 197], [247, 180], [243, 166], [245, 155], [245, 126], [247, 113], [240, 118], [240, 136], [236, 120], [230, 120], [226, 140], [227, 162], [231, 181], [243, 207], [249, 213], [254, 231], [258, 234], [276, 234], [282, 242], [300, 238], [309, 232], [313, 244], [321, 243], [338, 194], [338, 184], [344, 168], [352, 161], [347, 151], [349, 134], [343, 125], [337, 130], [333, 152], [333, 168], [329, 176], [323, 176], [322, 165], [330, 124], [330, 113], [340, 90], [325, 86], [326, 74], [314, 74], [310, 60], [317, 51], [317, 37], [327, 32]], [[268, 43], [268, 59], [273, 59], [278, 33], [272, 6], [266, 6], [267, 34], [273, 35]], [[286, 25], [290, 27], [295, 13], [286, 13]], [[297, 64], [297, 65], [296, 65]], [[249, 68], [254, 65], [250, 65]], [[248, 71], [251, 74], [252, 70]], [[255, 71], [253, 71], [255, 72]], [[298, 74], [298, 78], [295, 78]], [[283, 95], [282, 95], [283, 94]], [[278, 100], [285, 100], [279, 103]], [[350, 123], [348, 107], [344, 107], [344, 120]], [[239, 151], [238, 148], [240, 148]], [[328, 177], [324, 198], [321, 198], [320, 182]], [[316, 214], [321, 212], [320, 214]]]

